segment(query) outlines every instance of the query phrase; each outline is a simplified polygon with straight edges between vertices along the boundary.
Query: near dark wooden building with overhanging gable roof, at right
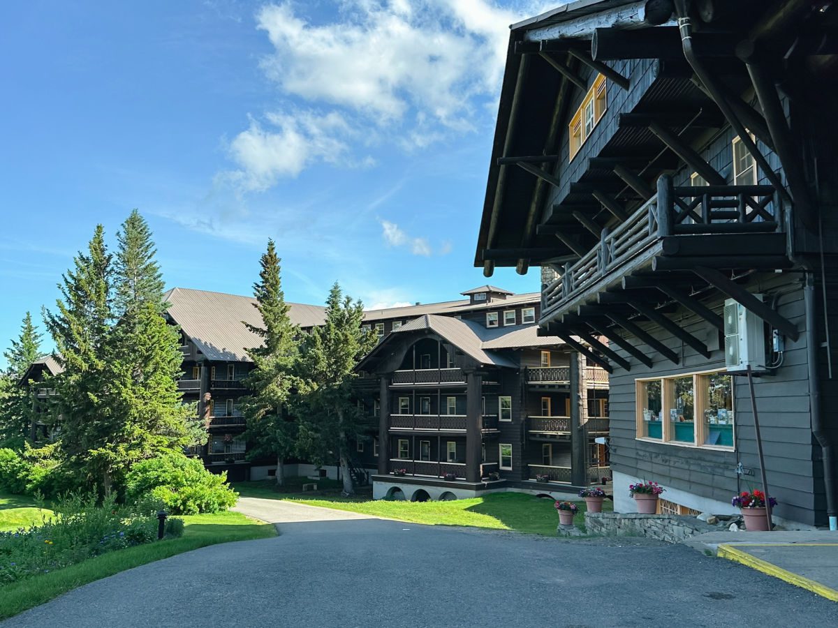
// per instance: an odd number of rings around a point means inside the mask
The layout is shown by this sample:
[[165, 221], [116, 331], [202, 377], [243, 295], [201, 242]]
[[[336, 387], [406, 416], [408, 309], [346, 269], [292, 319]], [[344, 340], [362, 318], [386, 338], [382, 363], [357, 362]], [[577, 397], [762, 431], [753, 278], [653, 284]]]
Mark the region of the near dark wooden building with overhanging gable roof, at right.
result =
[[542, 337], [611, 373], [618, 511], [649, 480], [662, 512], [734, 512], [761, 445], [775, 519], [836, 528], [836, 13], [580, 0], [511, 27], [475, 265], [541, 266]]

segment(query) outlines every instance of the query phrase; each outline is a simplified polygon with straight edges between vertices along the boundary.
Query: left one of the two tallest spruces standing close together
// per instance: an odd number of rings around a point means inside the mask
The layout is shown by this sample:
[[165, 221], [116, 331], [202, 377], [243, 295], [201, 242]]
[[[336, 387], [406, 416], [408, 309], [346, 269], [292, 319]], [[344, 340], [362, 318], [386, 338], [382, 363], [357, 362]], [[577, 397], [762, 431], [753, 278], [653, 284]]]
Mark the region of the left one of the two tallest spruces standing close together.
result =
[[62, 275], [61, 299], [55, 311], [44, 310], [44, 320], [64, 368], [56, 381], [61, 414], [62, 449], [70, 465], [90, 480], [111, 486], [111, 466], [91, 456], [116, 431], [116, 419], [106, 404], [110, 373], [108, 342], [111, 311], [111, 255], [101, 224], [96, 226], [86, 253], [73, 260]]

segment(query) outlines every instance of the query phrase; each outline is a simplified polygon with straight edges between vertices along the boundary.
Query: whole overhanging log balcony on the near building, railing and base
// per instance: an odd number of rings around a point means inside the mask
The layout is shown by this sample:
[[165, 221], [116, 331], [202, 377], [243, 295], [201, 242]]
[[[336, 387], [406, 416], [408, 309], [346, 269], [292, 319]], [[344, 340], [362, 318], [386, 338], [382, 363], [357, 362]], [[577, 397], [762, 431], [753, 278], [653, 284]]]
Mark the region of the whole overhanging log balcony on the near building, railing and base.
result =
[[[658, 193], [542, 291], [541, 324], [573, 312], [634, 270], [789, 265], [775, 190], [767, 185], [673, 188]], [[725, 258], [724, 260], [720, 259]]]

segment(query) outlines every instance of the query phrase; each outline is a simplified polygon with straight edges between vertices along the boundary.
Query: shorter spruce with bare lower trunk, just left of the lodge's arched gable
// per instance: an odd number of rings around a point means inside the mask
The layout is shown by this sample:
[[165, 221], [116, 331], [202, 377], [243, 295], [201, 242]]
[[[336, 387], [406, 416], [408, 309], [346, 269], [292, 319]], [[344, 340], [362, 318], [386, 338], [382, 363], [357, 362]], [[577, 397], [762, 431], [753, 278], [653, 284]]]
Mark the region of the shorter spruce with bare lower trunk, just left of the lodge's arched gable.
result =
[[375, 347], [375, 333], [365, 332], [364, 306], [344, 296], [335, 282], [326, 301], [326, 322], [303, 341], [302, 373], [307, 378], [300, 441], [305, 453], [318, 462], [337, 448], [344, 492], [354, 493], [350, 472], [350, 443], [363, 435], [363, 414], [352, 391], [358, 377], [354, 368]]

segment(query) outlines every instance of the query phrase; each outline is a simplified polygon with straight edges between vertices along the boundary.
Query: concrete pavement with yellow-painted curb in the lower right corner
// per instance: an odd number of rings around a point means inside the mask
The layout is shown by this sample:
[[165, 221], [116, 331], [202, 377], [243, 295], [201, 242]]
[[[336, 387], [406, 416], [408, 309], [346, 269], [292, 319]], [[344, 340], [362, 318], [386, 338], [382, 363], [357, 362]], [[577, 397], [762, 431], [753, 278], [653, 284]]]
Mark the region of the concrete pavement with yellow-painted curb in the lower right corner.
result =
[[838, 533], [718, 532], [700, 534], [687, 544], [838, 602]]

